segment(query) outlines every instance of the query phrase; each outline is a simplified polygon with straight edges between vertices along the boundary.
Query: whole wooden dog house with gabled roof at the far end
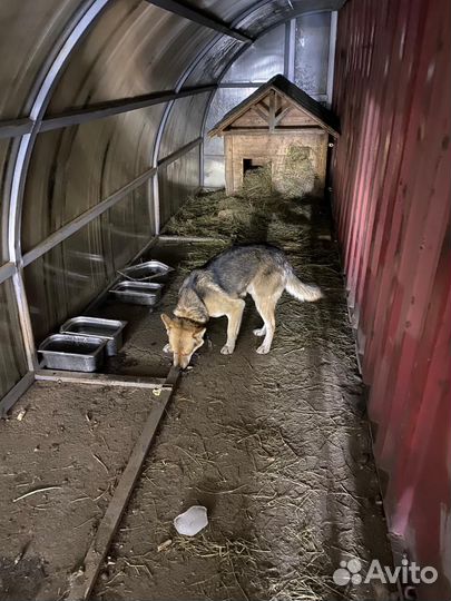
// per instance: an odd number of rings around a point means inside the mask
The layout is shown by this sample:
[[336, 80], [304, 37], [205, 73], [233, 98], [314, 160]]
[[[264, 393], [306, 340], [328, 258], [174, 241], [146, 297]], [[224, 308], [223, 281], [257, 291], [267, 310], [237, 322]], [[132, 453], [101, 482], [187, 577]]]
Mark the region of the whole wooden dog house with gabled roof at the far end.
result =
[[[336, 117], [277, 75], [232, 109], [209, 132], [224, 136], [227, 194], [249, 170], [271, 166], [273, 186], [300, 195], [324, 191], [329, 136], [340, 135]], [[294, 184], [294, 185], [293, 185]]]

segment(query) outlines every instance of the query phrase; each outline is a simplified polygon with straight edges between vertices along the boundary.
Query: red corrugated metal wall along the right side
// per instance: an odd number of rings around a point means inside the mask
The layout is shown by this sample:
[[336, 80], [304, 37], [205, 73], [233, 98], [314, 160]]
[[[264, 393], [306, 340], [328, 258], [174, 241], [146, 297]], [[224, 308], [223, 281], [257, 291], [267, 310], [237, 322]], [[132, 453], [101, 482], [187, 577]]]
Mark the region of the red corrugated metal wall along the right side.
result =
[[339, 14], [333, 204], [390, 531], [451, 599], [450, 1]]

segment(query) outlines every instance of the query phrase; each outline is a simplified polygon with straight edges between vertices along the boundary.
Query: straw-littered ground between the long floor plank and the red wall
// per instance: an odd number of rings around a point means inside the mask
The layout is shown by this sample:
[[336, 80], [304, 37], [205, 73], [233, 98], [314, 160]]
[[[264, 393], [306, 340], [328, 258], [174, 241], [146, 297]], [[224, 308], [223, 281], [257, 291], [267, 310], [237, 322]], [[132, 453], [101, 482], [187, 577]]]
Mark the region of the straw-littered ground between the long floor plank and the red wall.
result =
[[[259, 189], [259, 193], [257, 193]], [[166, 227], [223, 238], [180, 263], [161, 311], [195, 266], [229, 243], [267, 240], [326, 299], [283, 295], [268, 355], [255, 354], [249, 303], [234, 355], [218, 353], [224, 321], [182, 381], [134, 495], [96, 599], [329, 601], [388, 599], [375, 588], [340, 589], [341, 559], [390, 562], [378, 504], [361, 381], [327, 207], [274, 194], [253, 174], [236, 197], [190, 199]], [[158, 316], [155, 327], [158, 327]], [[186, 539], [175, 515], [208, 508], [209, 525]], [[170, 544], [159, 545], [170, 539]]]

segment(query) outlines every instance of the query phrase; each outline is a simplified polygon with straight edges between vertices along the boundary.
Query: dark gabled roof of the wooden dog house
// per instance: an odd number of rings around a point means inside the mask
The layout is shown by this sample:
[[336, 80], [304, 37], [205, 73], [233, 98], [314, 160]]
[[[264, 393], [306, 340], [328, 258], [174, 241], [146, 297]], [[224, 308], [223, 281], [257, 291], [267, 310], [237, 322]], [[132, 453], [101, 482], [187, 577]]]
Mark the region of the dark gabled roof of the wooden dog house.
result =
[[263, 83], [256, 89], [254, 93], [243, 100], [243, 102], [239, 102], [239, 105], [229, 110], [225, 117], [208, 131], [208, 136], [220, 136], [225, 129], [244, 115], [252, 106], [259, 102], [271, 90], [274, 90], [276, 93], [288, 100], [288, 102], [306, 112], [320, 127], [329, 131], [334, 138], [340, 136], [339, 118], [282, 75], [274, 76], [266, 83]]

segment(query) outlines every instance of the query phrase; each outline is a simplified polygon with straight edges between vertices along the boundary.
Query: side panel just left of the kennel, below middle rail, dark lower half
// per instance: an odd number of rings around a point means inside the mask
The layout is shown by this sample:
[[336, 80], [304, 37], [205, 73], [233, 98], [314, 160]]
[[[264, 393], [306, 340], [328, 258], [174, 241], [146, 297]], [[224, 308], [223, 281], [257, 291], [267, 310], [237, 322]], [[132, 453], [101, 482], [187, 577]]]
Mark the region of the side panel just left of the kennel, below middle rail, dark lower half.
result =
[[158, 171], [161, 226], [177, 213], [199, 186], [200, 147]]

